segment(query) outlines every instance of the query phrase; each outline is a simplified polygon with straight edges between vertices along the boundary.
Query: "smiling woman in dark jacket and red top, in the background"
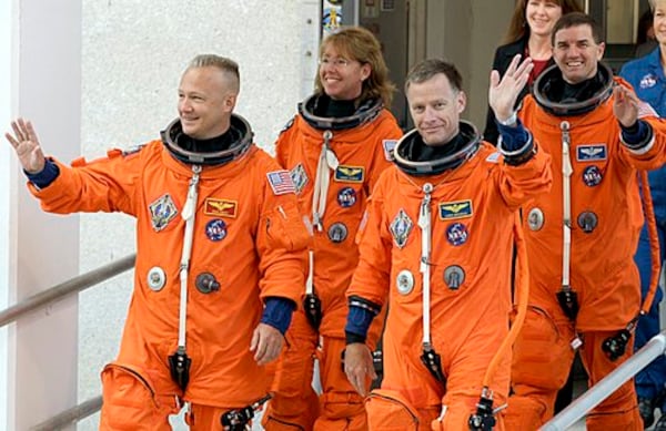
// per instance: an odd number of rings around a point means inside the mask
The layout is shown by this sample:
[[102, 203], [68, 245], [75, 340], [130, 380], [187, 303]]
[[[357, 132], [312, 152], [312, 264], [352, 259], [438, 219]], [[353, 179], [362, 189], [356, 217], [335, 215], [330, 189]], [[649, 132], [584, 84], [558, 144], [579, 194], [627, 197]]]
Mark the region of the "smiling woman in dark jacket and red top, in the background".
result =
[[[493, 69], [503, 76], [506, 68], [516, 54], [532, 58], [534, 69], [529, 76], [527, 85], [516, 101], [521, 103], [525, 94], [529, 92], [532, 83], [546, 69], [553, 64], [551, 60], [551, 32], [555, 22], [565, 13], [583, 12], [583, 8], [577, 0], [518, 0], [508, 25], [508, 31], [504, 38], [504, 43], [495, 51]], [[483, 137], [497, 144], [497, 124], [493, 110], [488, 107], [486, 116], [486, 126]]]

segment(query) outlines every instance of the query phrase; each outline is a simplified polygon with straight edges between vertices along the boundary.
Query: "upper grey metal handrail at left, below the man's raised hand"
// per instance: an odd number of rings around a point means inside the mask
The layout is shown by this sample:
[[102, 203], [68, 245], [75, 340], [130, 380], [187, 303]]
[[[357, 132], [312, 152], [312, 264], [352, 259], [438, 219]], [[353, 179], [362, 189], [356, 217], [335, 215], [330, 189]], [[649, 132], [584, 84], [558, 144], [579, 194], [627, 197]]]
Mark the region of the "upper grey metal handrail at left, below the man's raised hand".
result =
[[67, 280], [43, 291], [40, 291], [39, 294], [36, 294], [0, 311], [0, 328], [8, 324], [11, 324], [12, 321], [17, 320], [21, 316], [32, 310], [36, 310], [40, 307], [44, 307], [53, 301], [60, 300], [68, 295], [85, 290], [89, 287], [100, 284], [113, 276], [132, 269], [134, 267], [135, 258], [135, 254], [125, 256], [121, 259], [112, 261], [109, 265], [104, 265], [89, 273], [81, 274], [70, 280]]

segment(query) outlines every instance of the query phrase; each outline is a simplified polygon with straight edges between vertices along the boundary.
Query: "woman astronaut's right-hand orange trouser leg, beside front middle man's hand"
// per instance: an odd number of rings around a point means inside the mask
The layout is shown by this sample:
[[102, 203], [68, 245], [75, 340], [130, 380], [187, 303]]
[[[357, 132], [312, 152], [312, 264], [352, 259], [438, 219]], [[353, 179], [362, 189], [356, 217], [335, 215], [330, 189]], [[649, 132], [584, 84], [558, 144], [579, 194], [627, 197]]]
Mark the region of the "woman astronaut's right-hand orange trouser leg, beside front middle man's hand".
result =
[[342, 338], [323, 338], [319, 356], [323, 393], [320, 397], [320, 417], [314, 423], [316, 431], [367, 430], [364, 400], [354, 390], [342, 368], [341, 355], [344, 347]]

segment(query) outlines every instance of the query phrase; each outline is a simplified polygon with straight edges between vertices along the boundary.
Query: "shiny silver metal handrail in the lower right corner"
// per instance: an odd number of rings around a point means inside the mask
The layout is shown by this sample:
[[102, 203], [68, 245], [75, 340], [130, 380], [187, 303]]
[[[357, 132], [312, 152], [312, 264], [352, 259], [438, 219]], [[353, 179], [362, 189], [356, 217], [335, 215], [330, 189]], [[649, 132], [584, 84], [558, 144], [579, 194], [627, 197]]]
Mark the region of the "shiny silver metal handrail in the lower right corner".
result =
[[546, 422], [539, 431], [559, 431], [566, 430], [583, 417], [597, 407], [602, 401], [608, 398], [613, 392], [623, 386], [647, 367], [655, 358], [666, 352], [666, 331], [653, 337], [640, 350], [634, 353], [622, 366], [608, 373], [595, 386], [589, 388], [581, 397], [576, 398], [566, 409], [562, 410], [555, 418]]

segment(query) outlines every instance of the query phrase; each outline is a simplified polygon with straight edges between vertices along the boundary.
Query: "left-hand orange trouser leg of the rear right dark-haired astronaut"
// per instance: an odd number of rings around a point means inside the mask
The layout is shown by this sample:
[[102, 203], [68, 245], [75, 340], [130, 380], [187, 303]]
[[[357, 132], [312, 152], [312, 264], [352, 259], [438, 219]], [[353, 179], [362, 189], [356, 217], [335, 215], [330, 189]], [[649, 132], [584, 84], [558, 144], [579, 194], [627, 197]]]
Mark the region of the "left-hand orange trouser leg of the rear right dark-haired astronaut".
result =
[[529, 307], [514, 345], [513, 394], [504, 418], [507, 430], [537, 430], [553, 417], [557, 391], [568, 377], [574, 350], [573, 326], [557, 321], [541, 308]]

